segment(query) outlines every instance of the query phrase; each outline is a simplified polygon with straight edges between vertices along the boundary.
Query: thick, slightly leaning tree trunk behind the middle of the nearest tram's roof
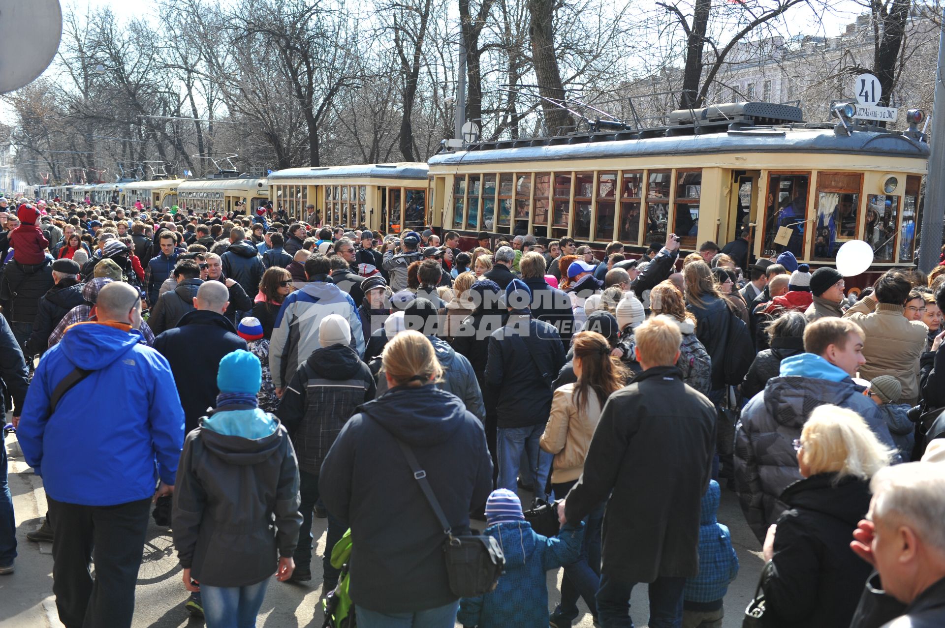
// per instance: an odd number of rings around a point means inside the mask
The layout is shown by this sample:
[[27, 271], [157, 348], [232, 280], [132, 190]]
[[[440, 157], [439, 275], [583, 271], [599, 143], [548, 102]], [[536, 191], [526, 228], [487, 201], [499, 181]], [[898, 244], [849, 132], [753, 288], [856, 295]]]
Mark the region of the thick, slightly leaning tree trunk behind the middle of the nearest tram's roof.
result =
[[[558, 58], [555, 56], [552, 28], [554, 3], [551, 0], [528, 0], [528, 13], [531, 18], [529, 35], [532, 59], [539, 93], [545, 98], [561, 101], [564, 99], [564, 84], [561, 81]], [[549, 134], [558, 135], [574, 127], [575, 121], [566, 110], [547, 101], [541, 102], [541, 108], [544, 110], [544, 123]]]

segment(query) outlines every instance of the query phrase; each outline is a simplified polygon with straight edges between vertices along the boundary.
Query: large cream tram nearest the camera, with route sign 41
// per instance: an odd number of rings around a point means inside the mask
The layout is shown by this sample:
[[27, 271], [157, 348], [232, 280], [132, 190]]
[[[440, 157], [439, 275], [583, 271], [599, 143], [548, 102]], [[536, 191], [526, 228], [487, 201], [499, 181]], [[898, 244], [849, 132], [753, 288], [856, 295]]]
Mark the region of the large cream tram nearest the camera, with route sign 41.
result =
[[861, 239], [874, 249], [871, 270], [914, 263], [929, 154], [916, 128], [798, 123], [797, 108], [768, 103], [722, 107], [722, 124], [707, 123], [711, 111], [676, 111], [675, 127], [440, 152], [429, 160], [434, 215], [466, 237], [619, 240], [642, 253], [674, 232], [691, 252], [749, 229], [751, 261], [789, 250], [829, 264]]

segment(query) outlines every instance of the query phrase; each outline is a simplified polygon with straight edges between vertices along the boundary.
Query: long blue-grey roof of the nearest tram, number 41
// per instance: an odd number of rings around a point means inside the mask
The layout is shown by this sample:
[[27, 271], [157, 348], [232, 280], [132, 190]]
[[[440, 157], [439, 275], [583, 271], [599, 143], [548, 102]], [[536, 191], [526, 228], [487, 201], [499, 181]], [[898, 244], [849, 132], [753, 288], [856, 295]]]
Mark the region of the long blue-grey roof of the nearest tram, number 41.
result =
[[[851, 135], [837, 134], [833, 128], [750, 127], [721, 133], [615, 139], [620, 134], [569, 138], [520, 140], [517, 144], [472, 144], [469, 149], [441, 152], [430, 158], [431, 166], [494, 163], [501, 161], [554, 161], [608, 159], [621, 157], [681, 156], [712, 153], [799, 152], [867, 154], [883, 157], [927, 159], [929, 145], [885, 129], [854, 129]], [[495, 146], [495, 147], [492, 147]]]

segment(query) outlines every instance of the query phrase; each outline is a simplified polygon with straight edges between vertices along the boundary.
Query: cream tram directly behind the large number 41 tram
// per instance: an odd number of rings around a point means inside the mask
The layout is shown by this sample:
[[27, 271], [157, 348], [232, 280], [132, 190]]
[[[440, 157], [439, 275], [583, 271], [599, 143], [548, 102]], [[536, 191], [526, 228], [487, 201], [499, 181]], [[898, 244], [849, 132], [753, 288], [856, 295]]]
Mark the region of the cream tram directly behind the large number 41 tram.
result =
[[313, 205], [324, 224], [400, 233], [431, 224], [426, 175], [413, 162], [288, 168], [269, 175], [269, 197], [293, 220], [308, 221]]

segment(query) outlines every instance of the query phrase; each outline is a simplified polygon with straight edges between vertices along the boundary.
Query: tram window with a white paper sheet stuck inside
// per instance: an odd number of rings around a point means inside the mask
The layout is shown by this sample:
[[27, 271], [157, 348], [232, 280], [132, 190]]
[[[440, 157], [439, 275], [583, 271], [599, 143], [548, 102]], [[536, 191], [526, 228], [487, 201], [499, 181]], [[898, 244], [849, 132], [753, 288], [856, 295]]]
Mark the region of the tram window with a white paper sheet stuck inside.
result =
[[[798, 259], [803, 257], [809, 185], [810, 175], [771, 175], [769, 178], [765, 203], [765, 257], [780, 255], [784, 251], [790, 251]], [[781, 227], [791, 229], [787, 244], [775, 243]]]

